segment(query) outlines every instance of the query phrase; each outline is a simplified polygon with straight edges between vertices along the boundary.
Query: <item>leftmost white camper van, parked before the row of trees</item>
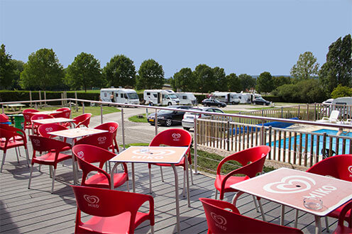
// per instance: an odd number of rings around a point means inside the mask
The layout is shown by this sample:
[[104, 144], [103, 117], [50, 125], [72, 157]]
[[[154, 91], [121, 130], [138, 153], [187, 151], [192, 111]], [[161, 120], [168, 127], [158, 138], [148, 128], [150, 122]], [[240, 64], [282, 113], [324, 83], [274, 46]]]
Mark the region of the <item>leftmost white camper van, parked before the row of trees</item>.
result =
[[139, 98], [137, 92], [133, 89], [100, 89], [101, 101], [111, 102], [111, 94], [114, 95], [114, 102], [120, 104], [137, 104], [139, 105]]

